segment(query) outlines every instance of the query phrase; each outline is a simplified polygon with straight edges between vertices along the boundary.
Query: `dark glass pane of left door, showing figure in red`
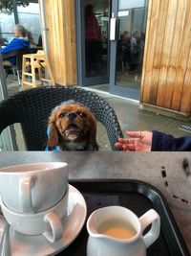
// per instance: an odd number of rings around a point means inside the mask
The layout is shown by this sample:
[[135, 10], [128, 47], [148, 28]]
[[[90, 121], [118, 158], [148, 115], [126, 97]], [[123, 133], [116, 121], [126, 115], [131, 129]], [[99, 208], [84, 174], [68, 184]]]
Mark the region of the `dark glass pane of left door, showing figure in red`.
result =
[[84, 8], [86, 77], [107, 76], [109, 0], [84, 1]]

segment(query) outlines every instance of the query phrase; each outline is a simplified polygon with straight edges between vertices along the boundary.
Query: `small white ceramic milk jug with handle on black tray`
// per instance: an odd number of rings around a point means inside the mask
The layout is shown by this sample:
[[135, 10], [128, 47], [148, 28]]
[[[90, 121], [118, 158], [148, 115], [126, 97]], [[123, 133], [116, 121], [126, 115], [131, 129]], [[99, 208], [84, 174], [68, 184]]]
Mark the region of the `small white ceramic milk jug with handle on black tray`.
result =
[[[119, 239], [100, 234], [97, 229], [108, 220], [130, 223], [136, 231], [135, 235], [129, 239]], [[151, 223], [151, 229], [142, 236], [144, 229]], [[87, 221], [87, 256], [146, 256], [146, 248], [159, 238], [159, 229], [159, 214], [153, 209], [139, 219], [132, 211], [121, 206], [97, 209]]]

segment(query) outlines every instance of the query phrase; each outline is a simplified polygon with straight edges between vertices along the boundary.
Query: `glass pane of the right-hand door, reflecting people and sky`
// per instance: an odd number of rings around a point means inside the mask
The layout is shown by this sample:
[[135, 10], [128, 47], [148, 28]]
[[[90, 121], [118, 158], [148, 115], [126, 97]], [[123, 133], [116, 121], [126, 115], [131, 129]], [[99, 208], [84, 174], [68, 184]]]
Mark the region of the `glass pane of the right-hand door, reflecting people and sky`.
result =
[[148, 0], [118, 2], [116, 85], [139, 89]]

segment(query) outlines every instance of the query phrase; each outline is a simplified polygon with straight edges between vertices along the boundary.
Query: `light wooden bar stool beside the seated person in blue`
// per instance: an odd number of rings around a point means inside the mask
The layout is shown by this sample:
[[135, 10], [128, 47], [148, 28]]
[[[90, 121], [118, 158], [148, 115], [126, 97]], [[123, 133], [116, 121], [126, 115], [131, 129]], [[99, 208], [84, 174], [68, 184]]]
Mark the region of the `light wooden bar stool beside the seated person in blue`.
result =
[[[42, 70], [42, 68], [44, 70]], [[36, 69], [38, 70], [39, 83], [36, 83]], [[51, 85], [55, 84], [49, 61], [44, 51], [39, 50], [36, 54], [24, 55], [22, 71], [22, 89], [24, 89], [26, 86], [36, 87], [38, 85], [43, 85], [44, 81], [50, 82]], [[43, 77], [43, 71], [45, 75], [49, 75], [50, 79]], [[26, 79], [29, 80], [29, 78], [32, 80], [32, 82], [26, 81]]]

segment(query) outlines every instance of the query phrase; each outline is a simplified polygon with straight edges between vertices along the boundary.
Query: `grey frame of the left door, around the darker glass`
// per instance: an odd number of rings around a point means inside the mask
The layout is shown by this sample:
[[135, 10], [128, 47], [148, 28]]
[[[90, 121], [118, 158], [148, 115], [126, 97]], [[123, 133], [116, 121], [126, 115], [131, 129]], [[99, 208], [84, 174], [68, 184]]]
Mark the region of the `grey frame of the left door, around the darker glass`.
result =
[[[75, 0], [75, 28], [76, 28], [76, 64], [77, 64], [77, 84], [80, 86], [96, 85], [109, 82], [109, 63], [110, 54], [108, 54], [107, 76], [86, 78], [85, 64], [85, 31], [84, 31], [84, 0]], [[110, 53], [110, 43], [108, 44], [108, 53]]]

